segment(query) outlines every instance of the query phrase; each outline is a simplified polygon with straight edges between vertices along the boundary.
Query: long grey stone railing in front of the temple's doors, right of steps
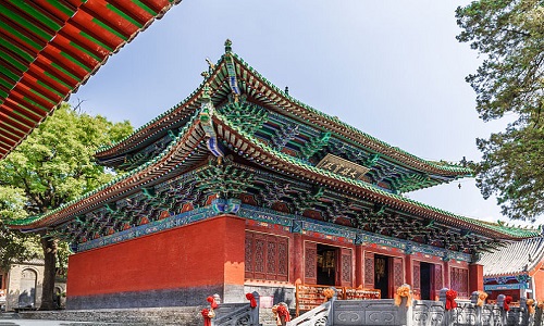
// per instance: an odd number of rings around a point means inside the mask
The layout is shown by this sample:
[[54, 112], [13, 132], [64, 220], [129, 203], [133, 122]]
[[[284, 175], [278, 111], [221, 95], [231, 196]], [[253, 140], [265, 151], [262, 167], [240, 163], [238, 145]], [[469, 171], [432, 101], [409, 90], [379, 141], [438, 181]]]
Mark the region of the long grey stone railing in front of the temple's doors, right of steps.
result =
[[505, 296], [496, 304], [477, 304], [478, 292], [470, 301], [457, 303], [446, 310], [446, 291], [441, 291], [441, 301], [415, 300], [407, 306], [408, 298], [401, 298], [399, 306], [392, 299], [337, 300], [332, 298], [317, 309], [287, 323], [287, 326], [544, 326], [543, 310], [530, 313], [527, 300], [521, 298], [519, 306], [505, 305]]

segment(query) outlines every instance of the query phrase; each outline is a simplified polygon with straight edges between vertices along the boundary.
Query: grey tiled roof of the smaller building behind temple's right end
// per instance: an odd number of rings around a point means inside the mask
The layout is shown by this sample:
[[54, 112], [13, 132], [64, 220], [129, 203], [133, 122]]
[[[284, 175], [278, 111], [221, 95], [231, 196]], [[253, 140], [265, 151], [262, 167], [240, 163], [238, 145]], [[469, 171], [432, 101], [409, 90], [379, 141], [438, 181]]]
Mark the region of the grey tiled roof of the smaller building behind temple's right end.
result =
[[532, 275], [544, 260], [544, 238], [535, 237], [507, 243], [506, 247], [483, 253], [478, 264], [484, 277]]

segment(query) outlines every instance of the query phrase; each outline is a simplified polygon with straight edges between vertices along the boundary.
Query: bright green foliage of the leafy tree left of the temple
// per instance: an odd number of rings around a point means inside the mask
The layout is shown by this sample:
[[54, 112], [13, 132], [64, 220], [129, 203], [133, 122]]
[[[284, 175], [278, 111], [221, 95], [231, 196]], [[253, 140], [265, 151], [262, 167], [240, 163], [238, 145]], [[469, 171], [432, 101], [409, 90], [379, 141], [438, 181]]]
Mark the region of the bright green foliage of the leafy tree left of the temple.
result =
[[113, 124], [63, 103], [0, 161], [2, 267], [30, 258], [45, 259], [44, 296], [52, 298], [53, 287], [47, 285], [51, 296], [47, 294], [46, 283], [54, 281], [55, 269], [65, 271], [67, 244], [45, 237], [44, 233], [23, 235], [3, 225], [47, 213], [111, 180], [113, 173], [95, 164], [92, 155], [100, 146], [119, 141], [132, 130], [128, 122]]

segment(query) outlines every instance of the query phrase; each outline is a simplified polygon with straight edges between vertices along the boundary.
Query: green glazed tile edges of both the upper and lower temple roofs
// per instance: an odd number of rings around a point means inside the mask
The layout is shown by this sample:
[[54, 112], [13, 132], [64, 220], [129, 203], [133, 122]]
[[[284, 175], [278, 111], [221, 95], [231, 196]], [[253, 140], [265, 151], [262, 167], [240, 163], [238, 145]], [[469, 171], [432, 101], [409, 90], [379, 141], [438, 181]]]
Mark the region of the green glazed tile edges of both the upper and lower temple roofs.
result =
[[[421, 160], [417, 156], [413, 156], [407, 152], [404, 152], [399, 150], [398, 148], [391, 147], [387, 143], [380, 141], [379, 139], [375, 139], [364, 133], [361, 133], [354, 127], [350, 127], [344, 123], [338, 122], [336, 118], [331, 117], [326, 114], [323, 114], [310, 106], [305, 105], [304, 103], [298, 102], [297, 100], [290, 98], [288, 95], [283, 93], [280, 89], [277, 89], [275, 86], [270, 84], [268, 80], [265, 80], [262, 76], [258, 75], [251, 67], [246, 65], [242, 59], [234, 57], [236, 59], [236, 62], [239, 62], [239, 65], [237, 66], [237, 72], [239, 74], [240, 68], [246, 68], [251, 72], [251, 74], [256, 75], [259, 79], [261, 79], [263, 83], [267, 83], [268, 87], [273, 91], [276, 92], [277, 96], [275, 96], [279, 100], [279, 103], [286, 103], [287, 101], [293, 102], [292, 105], [288, 105], [285, 108], [285, 110], [292, 110], [293, 115], [295, 116], [300, 116], [301, 114], [305, 114], [307, 116], [319, 116], [322, 121], [325, 123], [330, 123], [334, 125], [334, 128], [337, 130], [344, 129], [348, 130], [351, 134], [356, 135], [356, 139], [368, 139], [368, 141], [371, 141], [372, 143], [378, 143], [382, 146], [383, 148], [387, 148], [390, 151], [393, 151], [397, 154], [405, 155], [409, 158], [410, 160], [418, 161], [422, 164], [428, 164], [430, 166], [435, 166], [437, 168], [443, 168], [445, 171], [450, 171], [450, 172], [456, 172], [456, 173], [468, 173], [468, 170], [465, 167], [460, 166], [455, 166], [455, 165], [447, 165], [447, 164], [442, 164], [442, 163], [436, 163], [436, 162], [428, 162], [424, 160]], [[214, 85], [214, 83], [211, 83], [210, 80], [215, 78], [217, 76], [221, 75], [219, 73], [220, 70], [224, 68], [224, 57], [218, 62], [215, 71], [212, 73], [211, 77], [207, 80], [210, 83], [210, 85]], [[218, 83], [221, 84], [221, 83]], [[162, 126], [161, 124], [168, 125], [171, 123], [169, 121], [170, 115], [173, 115], [177, 110], [184, 110], [188, 108], [188, 105], [193, 105], [193, 109], [187, 110], [185, 114], [188, 114], [190, 111], [191, 118], [185, 126], [183, 127], [182, 131], [175, 137], [173, 141], [168, 146], [168, 148], [156, 159], [153, 159], [150, 162], [147, 162], [146, 164], [124, 174], [118, 176], [115, 179], [111, 180], [109, 184], [100, 187], [99, 189], [96, 189], [95, 191], [91, 191], [89, 193], [86, 193], [70, 203], [53, 210], [45, 215], [41, 216], [34, 216], [29, 217], [26, 220], [21, 220], [21, 221], [15, 221], [12, 223], [13, 227], [16, 228], [36, 228], [36, 227], [44, 227], [47, 225], [52, 225], [55, 222], [58, 222], [55, 218], [67, 218], [71, 216], [71, 214], [77, 214], [77, 210], [79, 206], [83, 206], [82, 202], [85, 202], [87, 200], [94, 201], [92, 206], [96, 206], [107, 200], [109, 200], [112, 196], [118, 196], [119, 193], [127, 191], [126, 189], [123, 189], [124, 183], [129, 183], [134, 181], [136, 178], [143, 178], [146, 176], [146, 174], [152, 174], [153, 171], [157, 171], [159, 167], [157, 164], [159, 162], [168, 161], [170, 164], [169, 166], [183, 166], [185, 164], [185, 159], [182, 159], [181, 161], [178, 159], [178, 147], [184, 146], [184, 143], [181, 143], [182, 139], [186, 139], [184, 137], [187, 136], [189, 130], [194, 130], [196, 127], [196, 124], [198, 124], [197, 116], [199, 114], [199, 110], [195, 109], [197, 103], [201, 100], [200, 96], [202, 92], [202, 87], [203, 84], [200, 85], [200, 87], [195, 90], [187, 99], [185, 99], [183, 102], [180, 104], [175, 105], [174, 108], [170, 109], [165, 113], [161, 114], [158, 116], [156, 120], [151, 121], [150, 123], [146, 124], [145, 126], [140, 127], [138, 130], [136, 130], [131, 137], [126, 138], [125, 140], [112, 145], [108, 148], [104, 148], [101, 150], [101, 153], [104, 153], [106, 151], [113, 150], [113, 152], [118, 151], [120, 148], [124, 146], [127, 141], [129, 141], [133, 137], [137, 138], [139, 137], [138, 141], [144, 141], [146, 137], [150, 137], [152, 133], [160, 133], [162, 128], [165, 126]], [[269, 92], [269, 96], [271, 93]], [[273, 96], [274, 97], [274, 96]], [[280, 98], [281, 97], [281, 98]], [[283, 102], [282, 102], [283, 101]], [[196, 110], [196, 111], [195, 111]], [[521, 239], [521, 238], [529, 238], [529, 237], [534, 237], [539, 235], [537, 230], [534, 229], [522, 229], [522, 228], [516, 228], [516, 227], [509, 227], [506, 225], [502, 224], [493, 224], [493, 223], [487, 223], [487, 222], [482, 222], [478, 221], [474, 218], [469, 218], [466, 216], [453, 214], [450, 212], [433, 208], [431, 205], [426, 205], [424, 203], [405, 198], [399, 195], [394, 195], [387, 191], [384, 191], [371, 184], [361, 181], [361, 180], [355, 180], [350, 179], [337, 174], [334, 174], [329, 171], [324, 171], [321, 168], [318, 168], [313, 165], [308, 164], [306, 161], [299, 160], [297, 158], [290, 156], [288, 154], [282, 153], [280, 151], [274, 150], [267, 143], [260, 141], [258, 138], [255, 136], [244, 131], [240, 127], [233, 125], [225, 116], [221, 115], [219, 112], [214, 112], [213, 118], [217, 124], [217, 128], [219, 129], [220, 127], [222, 128], [227, 128], [232, 129], [238, 138], [243, 138], [244, 141], [249, 143], [250, 147], [255, 149], [255, 151], [251, 154], [245, 154], [245, 156], [248, 156], [249, 159], [255, 159], [257, 163], [270, 166], [271, 168], [277, 168], [277, 170], [283, 170], [283, 171], [288, 171], [289, 173], [301, 173], [305, 176], [310, 176], [317, 181], [325, 181], [332, 187], [335, 188], [342, 188], [344, 190], [353, 191], [358, 195], [364, 195], [370, 198], [373, 198], [373, 200], [376, 201], [382, 201], [386, 203], [387, 205], [392, 206], [397, 206], [399, 210], [404, 210], [407, 212], [416, 213], [418, 215], [422, 215], [425, 217], [431, 217], [431, 218], [438, 218], [448, 225], [452, 226], [457, 226], [459, 228], [472, 228], [475, 229], [478, 233], [481, 234], [486, 234], [491, 235], [491, 237], [504, 237], [508, 239]], [[224, 129], [223, 129], [224, 131]], [[221, 134], [221, 133], [220, 133]], [[136, 137], [137, 136], [137, 137]], [[225, 141], [228, 141], [228, 139], [225, 139]], [[235, 146], [235, 143], [232, 143]], [[194, 148], [196, 148], [197, 145], [194, 145]], [[364, 146], [361, 143], [361, 146]], [[193, 149], [194, 149], [193, 148]], [[193, 150], [191, 149], [191, 150]], [[258, 156], [252, 158], [251, 155], [258, 153]], [[280, 167], [277, 167], [280, 166]], [[154, 172], [157, 173], [157, 172]], [[140, 184], [137, 184], [134, 181], [133, 184], [129, 184], [131, 187], [137, 187], [138, 185], [141, 186]], [[115, 188], [116, 187], [116, 188]], [[112, 195], [113, 193], [113, 195]], [[95, 197], [95, 198], [94, 198]], [[86, 208], [88, 209], [88, 206]], [[53, 218], [53, 220], [51, 220]]]

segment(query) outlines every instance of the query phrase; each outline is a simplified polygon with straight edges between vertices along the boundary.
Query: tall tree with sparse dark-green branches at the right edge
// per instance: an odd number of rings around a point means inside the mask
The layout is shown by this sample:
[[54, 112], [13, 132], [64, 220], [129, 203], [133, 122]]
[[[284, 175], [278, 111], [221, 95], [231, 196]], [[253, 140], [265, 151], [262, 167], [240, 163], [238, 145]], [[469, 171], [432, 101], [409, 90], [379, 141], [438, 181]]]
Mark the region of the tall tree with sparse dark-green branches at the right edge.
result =
[[480, 117], [515, 118], [477, 139], [477, 185], [484, 198], [497, 195], [504, 215], [534, 222], [544, 214], [544, 1], [479, 0], [456, 17], [457, 39], [484, 59], [467, 77]]

